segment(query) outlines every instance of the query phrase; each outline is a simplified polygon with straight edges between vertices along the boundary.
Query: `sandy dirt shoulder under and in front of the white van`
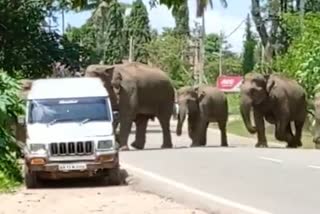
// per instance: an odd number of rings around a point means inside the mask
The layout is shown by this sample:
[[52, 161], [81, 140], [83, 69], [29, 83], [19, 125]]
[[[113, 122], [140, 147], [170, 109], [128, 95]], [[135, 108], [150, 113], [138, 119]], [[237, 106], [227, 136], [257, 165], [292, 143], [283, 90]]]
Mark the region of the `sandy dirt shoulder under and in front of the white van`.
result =
[[205, 214], [130, 186], [65, 185], [0, 194], [0, 214]]

